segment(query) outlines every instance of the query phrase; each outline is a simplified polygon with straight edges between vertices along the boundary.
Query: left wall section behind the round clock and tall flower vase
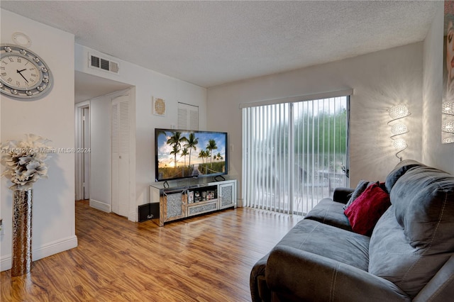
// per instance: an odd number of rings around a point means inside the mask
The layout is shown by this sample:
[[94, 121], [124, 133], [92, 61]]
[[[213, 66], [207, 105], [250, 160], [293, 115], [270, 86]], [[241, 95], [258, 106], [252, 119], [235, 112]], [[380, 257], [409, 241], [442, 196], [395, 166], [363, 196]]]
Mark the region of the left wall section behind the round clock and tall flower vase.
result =
[[[74, 35], [0, 9], [1, 43], [13, 44], [12, 33], [31, 38], [30, 50], [43, 57], [54, 77], [52, 90], [36, 101], [0, 96], [1, 139], [21, 140], [26, 133], [41, 135], [51, 147], [74, 147]], [[1, 167], [2, 171], [4, 167]], [[33, 185], [33, 260], [77, 246], [74, 209], [74, 153], [52, 154], [48, 179]], [[1, 179], [0, 267], [11, 268], [12, 191]]]

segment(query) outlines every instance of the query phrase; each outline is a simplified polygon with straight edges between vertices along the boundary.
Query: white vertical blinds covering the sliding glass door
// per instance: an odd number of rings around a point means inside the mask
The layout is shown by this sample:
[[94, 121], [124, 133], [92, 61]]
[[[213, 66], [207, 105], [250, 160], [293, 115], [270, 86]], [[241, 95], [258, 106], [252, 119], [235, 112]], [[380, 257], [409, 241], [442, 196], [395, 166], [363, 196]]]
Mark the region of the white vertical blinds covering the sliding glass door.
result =
[[305, 215], [348, 186], [349, 96], [243, 108], [246, 206]]

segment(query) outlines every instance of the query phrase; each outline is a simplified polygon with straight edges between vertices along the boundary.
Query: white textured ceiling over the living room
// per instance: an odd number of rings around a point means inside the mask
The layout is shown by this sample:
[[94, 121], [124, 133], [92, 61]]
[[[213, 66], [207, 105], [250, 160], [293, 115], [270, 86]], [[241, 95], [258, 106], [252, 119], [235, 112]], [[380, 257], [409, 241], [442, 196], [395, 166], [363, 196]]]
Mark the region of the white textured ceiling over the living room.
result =
[[204, 86], [425, 38], [433, 1], [0, 1], [76, 43]]

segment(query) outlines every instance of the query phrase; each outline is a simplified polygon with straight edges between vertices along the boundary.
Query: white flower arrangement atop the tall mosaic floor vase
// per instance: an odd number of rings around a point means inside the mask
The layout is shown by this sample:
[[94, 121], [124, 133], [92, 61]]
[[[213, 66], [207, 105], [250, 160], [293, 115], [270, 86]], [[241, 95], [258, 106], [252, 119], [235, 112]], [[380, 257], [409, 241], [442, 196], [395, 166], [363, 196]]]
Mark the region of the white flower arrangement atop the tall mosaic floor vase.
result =
[[11, 190], [28, 190], [40, 178], [48, 177], [45, 160], [52, 149], [46, 145], [50, 140], [27, 134], [26, 140], [9, 140], [1, 145], [1, 164], [6, 167], [1, 176], [13, 185]]

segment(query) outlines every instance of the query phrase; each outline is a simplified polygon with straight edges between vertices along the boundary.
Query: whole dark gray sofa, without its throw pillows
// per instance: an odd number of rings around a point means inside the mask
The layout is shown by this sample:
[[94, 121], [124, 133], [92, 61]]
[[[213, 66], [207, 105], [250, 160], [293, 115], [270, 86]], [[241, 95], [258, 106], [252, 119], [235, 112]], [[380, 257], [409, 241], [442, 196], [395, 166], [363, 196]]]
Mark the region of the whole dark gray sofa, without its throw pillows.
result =
[[391, 206], [372, 235], [343, 213], [336, 189], [260, 259], [253, 301], [454, 301], [454, 177], [413, 160], [385, 181]]

